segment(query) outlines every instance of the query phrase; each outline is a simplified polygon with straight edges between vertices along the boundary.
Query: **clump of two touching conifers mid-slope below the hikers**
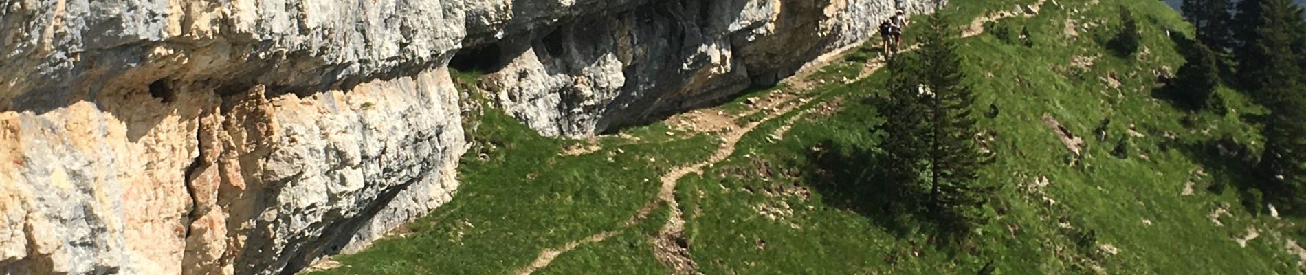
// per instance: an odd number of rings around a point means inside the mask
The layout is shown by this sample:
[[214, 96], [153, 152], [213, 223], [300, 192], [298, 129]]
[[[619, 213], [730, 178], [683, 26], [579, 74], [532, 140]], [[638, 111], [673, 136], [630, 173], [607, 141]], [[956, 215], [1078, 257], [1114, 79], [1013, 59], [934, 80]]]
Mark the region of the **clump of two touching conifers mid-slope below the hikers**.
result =
[[974, 143], [974, 95], [963, 82], [949, 25], [939, 14], [929, 23], [921, 50], [888, 65], [884, 171], [901, 198], [923, 198], [942, 233], [964, 237], [986, 220], [982, 207], [995, 189], [978, 181], [977, 171], [990, 156]]

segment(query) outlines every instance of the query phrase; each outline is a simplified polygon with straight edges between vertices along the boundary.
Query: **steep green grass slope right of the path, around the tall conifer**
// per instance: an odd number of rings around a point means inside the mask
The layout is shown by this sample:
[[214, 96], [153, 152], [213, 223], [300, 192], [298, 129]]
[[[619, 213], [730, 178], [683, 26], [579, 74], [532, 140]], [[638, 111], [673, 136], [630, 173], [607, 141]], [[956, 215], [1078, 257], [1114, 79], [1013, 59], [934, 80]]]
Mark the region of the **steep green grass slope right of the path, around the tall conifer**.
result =
[[[884, 184], [870, 176], [875, 163], [865, 156], [875, 149], [863, 145], [884, 138], [865, 130], [879, 124], [870, 102], [882, 94], [883, 86], [882, 78], [870, 78], [850, 89], [855, 90], [852, 98], [868, 100], [845, 100], [845, 108], [833, 116], [802, 121], [778, 145], [756, 137], [744, 139], [741, 145], [752, 146], [757, 154], [727, 160], [729, 164], [718, 166], [718, 173], [708, 172], [691, 181], [695, 184], [684, 185], [682, 193], [687, 197], [705, 194], [686, 203], [704, 209], [704, 215], [691, 216], [695, 258], [708, 263], [704, 268], [708, 274], [957, 272], [978, 270], [989, 259], [1007, 274], [1087, 271], [1094, 266], [1124, 274], [1288, 272], [1296, 261], [1282, 253], [1280, 242], [1251, 241], [1239, 248], [1232, 241], [1251, 224], [1264, 231], [1266, 223], [1247, 218], [1247, 211], [1238, 206], [1237, 192], [1224, 195], [1202, 192], [1207, 181], [1196, 186], [1196, 194], [1179, 195], [1190, 171], [1198, 168], [1216, 175], [1218, 181], [1241, 180], [1230, 175], [1238, 171], [1222, 168], [1224, 163], [1202, 163], [1204, 152], [1186, 145], [1203, 145], [1225, 136], [1247, 143], [1255, 141], [1255, 134], [1234, 116], [1196, 113], [1194, 129], [1182, 126], [1185, 112], [1151, 96], [1155, 86], [1151, 69], [1178, 68], [1182, 63], [1164, 27], [1182, 30], [1183, 23], [1156, 1], [1107, 0], [1081, 16], [1114, 21], [1117, 4], [1130, 7], [1143, 22], [1144, 44], [1151, 52], [1143, 61], [1113, 56], [1101, 47], [1104, 43], [1097, 40], [1106, 40], [1110, 34], [1106, 27], [1083, 33], [1079, 39], [1067, 38], [1064, 18], [1070, 10], [1085, 10], [1084, 4], [1045, 5], [1038, 17], [1007, 20], [1017, 30], [1029, 26], [1036, 39], [1032, 48], [1007, 44], [993, 35], [963, 40], [961, 51], [980, 94], [980, 107], [993, 103], [1000, 109], [998, 117], [981, 124], [998, 133], [994, 142], [998, 163], [986, 171], [985, 180], [1004, 186], [994, 207], [1003, 214], [983, 228], [980, 248], [973, 249], [978, 255], [949, 255], [956, 250], [925, 245], [925, 235], [918, 233], [922, 228], [876, 209], [876, 199], [885, 198], [849, 195], [866, 185]], [[1102, 57], [1087, 72], [1067, 70], [1076, 55]], [[1110, 72], [1122, 76], [1121, 89], [1102, 81]], [[1235, 109], [1255, 109], [1239, 94], [1224, 95]], [[1081, 160], [1087, 166], [1070, 167], [1071, 152], [1043, 126], [1043, 113], [1089, 137], [1102, 119], [1111, 117], [1114, 123], [1105, 142], [1089, 141], [1089, 156]], [[1145, 137], [1134, 138], [1136, 147], [1128, 159], [1111, 156], [1117, 138], [1131, 124]], [[1200, 134], [1207, 128], [1209, 134]], [[1166, 132], [1179, 138], [1168, 143], [1170, 149], [1161, 150]], [[748, 172], [726, 172], [763, 168], [793, 171], [765, 180]], [[811, 176], [816, 169], [835, 176]], [[1050, 179], [1051, 185], [1043, 193], [1055, 205], [1047, 205], [1042, 193], [1024, 188], [1040, 176]], [[752, 211], [757, 205], [777, 201], [756, 190], [794, 184], [812, 189], [815, 195], [780, 197], [794, 211], [790, 218], [776, 222]], [[1225, 225], [1216, 227], [1205, 215], [1221, 203], [1233, 206], [1234, 218], [1224, 218]], [[1019, 232], [1012, 233], [1011, 228]], [[756, 248], [759, 240], [767, 241], [765, 249]], [[1104, 245], [1117, 248], [1118, 254], [1102, 252]]]

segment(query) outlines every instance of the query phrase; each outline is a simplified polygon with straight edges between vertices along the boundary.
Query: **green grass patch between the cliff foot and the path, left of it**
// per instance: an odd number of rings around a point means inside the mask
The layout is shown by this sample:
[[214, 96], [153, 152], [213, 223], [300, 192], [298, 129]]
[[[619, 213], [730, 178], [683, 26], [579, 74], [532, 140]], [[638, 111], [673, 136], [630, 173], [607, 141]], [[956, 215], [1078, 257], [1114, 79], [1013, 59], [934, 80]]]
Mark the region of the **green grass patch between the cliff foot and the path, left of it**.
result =
[[505, 274], [545, 248], [616, 229], [653, 199], [662, 172], [705, 159], [716, 145], [708, 136], [666, 133], [653, 124], [627, 130], [631, 138], [594, 141], [599, 151], [565, 155], [588, 142], [541, 137], [487, 111], [470, 133], [453, 201], [411, 223], [410, 236], [337, 257], [345, 266], [320, 274]]

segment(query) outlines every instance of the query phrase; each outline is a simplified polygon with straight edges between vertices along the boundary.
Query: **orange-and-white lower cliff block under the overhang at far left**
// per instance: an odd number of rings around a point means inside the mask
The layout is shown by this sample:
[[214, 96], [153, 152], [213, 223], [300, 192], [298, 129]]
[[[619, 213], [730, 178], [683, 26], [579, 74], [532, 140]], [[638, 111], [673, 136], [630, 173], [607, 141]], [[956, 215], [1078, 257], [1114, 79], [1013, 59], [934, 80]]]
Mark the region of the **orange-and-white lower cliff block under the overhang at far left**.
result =
[[268, 274], [375, 240], [456, 189], [456, 94], [436, 70], [7, 112], [4, 271]]

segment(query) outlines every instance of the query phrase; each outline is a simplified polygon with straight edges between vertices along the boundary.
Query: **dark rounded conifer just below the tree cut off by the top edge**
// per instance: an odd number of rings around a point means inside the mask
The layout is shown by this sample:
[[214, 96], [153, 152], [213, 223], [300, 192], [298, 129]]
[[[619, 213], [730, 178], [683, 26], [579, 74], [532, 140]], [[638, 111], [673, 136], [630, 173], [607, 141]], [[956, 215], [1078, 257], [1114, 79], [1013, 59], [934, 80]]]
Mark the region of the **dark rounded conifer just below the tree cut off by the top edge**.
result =
[[1220, 68], [1216, 55], [1200, 40], [1194, 42], [1185, 52], [1188, 61], [1179, 66], [1174, 82], [1175, 99], [1191, 109], [1205, 107], [1220, 85]]

